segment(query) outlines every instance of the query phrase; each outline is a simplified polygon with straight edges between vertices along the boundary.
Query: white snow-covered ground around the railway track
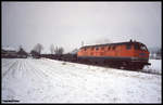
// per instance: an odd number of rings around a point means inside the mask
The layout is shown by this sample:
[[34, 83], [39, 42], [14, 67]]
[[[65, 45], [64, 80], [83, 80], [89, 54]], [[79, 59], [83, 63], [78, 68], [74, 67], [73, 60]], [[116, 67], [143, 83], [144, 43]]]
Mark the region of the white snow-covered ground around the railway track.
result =
[[[158, 62], [147, 68], [161, 71]], [[161, 78], [48, 58], [2, 58], [2, 103], [161, 103]]]

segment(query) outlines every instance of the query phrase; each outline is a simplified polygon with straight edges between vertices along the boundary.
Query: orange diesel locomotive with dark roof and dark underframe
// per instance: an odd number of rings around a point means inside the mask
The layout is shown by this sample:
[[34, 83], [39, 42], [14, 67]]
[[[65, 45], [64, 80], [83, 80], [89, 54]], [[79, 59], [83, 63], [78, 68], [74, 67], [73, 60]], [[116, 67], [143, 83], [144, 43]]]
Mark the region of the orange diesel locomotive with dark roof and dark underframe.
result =
[[82, 62], [105, 64], [128, 69], [142, 69], [150, 65], [146, 44], [137, 41], [85, 45], [77, 52]]

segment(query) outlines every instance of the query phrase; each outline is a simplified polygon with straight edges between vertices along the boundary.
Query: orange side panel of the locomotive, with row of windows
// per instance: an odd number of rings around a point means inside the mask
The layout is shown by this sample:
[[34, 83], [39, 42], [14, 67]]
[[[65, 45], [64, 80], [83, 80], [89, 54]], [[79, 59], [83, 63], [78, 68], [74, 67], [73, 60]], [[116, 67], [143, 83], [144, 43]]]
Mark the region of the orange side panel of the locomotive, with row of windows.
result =
[[89, 47], [83, 48], [77, 53], [78, 56], [112, 56], [112, 57], [131, 57], [134, 56], [134, 48], [126, 49], [122, 45], [106, 45], [106, 47]]

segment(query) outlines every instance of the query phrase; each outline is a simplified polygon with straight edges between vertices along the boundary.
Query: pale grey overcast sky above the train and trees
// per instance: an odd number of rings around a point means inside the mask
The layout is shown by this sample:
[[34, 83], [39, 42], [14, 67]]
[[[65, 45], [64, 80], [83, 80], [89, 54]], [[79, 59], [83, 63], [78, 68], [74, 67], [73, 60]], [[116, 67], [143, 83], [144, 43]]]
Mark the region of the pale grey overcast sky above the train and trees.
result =
[[29, 52], [53, 43], [65, 52], [84, 44], [138, 40], [160, 47], [161, 2], [2, 2], [2, 45]]

